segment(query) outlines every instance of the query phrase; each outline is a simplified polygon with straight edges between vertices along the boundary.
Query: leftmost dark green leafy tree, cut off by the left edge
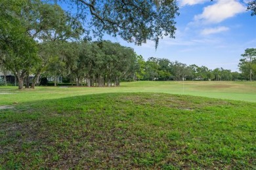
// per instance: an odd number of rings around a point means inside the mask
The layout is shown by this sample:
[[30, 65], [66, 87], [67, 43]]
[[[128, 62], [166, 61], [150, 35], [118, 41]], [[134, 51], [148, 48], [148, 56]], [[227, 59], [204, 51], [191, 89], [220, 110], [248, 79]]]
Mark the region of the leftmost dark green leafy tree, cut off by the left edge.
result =
[[23, 88], [25, 76], [37, 67], [37, 44], [26, 33], [26, 22], [20, 18], [28, 1], [1, 1], [0, 9], [0, 62], [18, 79]]

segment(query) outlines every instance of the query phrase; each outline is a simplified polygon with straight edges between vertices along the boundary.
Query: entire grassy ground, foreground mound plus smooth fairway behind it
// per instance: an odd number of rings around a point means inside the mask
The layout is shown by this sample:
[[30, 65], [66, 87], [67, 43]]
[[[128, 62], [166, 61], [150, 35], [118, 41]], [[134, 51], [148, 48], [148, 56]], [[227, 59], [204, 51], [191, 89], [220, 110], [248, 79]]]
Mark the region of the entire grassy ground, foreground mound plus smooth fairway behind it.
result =
[[0, 169], [255, 169], [255, 102], [255, 82], [0, 87]]

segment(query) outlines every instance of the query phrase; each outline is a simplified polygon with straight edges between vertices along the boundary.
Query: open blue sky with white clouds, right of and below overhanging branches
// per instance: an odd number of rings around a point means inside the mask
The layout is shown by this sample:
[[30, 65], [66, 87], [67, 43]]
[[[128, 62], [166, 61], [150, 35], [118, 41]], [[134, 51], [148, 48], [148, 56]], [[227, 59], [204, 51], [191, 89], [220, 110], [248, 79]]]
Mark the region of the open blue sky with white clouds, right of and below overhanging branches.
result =
[[256, 16], [246, 11], [247, 1], [177, 0], [180, 15], [175, 39], [161, 39], [157, 50], [153, 41], [135, 46], [118, 37], [104, 38], [134, 48], [145, 60], [167, 58], [186, 65], [239, 71], [241, 54], [246, 48], [256, 48]]

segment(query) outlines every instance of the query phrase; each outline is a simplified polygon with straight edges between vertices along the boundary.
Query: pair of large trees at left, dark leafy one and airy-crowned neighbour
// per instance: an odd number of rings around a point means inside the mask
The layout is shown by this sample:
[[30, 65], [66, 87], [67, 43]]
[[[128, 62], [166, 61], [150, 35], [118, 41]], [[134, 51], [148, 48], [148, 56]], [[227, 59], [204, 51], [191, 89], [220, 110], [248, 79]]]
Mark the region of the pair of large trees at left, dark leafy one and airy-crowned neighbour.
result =
[[[81, 23], [53, 3], [40, 0], [11, 0], [2, 1], [1, 7], [0, 52], [3, 58], [0, 62], [18, 78], [19, 88], [23, 88], [25, 76], [32, 73], [35, 75], [34, 86], [41, 72], [48, 66], [49, 58], [53, 60], [56, 57], [56, 52], [42, 52], [45, 48], [41, 46], [38, 54], [35, 40], [54, 41], [56, 45], [60, 43], [58, 41], [79, 39], [83, 33]], [[51, 71], [53, 72], [53, 69]], [[58, 71], [55, 70], [54, 74], [56, 72]]]

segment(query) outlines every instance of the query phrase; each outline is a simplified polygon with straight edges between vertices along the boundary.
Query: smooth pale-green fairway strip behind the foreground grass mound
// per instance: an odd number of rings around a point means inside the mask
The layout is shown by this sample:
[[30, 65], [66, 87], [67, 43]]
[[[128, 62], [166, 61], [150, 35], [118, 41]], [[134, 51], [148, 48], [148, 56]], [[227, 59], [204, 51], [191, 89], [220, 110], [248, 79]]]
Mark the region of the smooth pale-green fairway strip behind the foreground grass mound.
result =
[[[0, 86], [0, 105], [26, 101], [58, 99], [95, 93], [157, 92], [196, 95], [217, 99], [256, 102], [256, 82], [122, 82], [116, 88], [60, 88], [36, 87], [35, 90], [17, 90]], [[2, 94], [1, 94], [2, 93]], [[3, 94], [5, 93], [5, 94]], [[9, 94], [10, 93], [10, 94]]]

